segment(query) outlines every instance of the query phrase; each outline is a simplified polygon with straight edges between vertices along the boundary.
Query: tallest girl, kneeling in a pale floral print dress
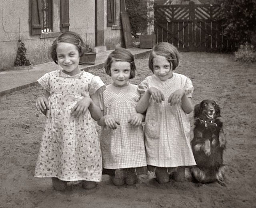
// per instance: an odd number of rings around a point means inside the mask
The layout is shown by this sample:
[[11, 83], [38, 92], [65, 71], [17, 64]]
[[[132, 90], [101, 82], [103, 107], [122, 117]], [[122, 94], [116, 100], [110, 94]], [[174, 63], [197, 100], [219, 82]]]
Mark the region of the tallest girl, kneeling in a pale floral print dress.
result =
[[65, 32], [54, 40], [51, 56], [61, 69], [38, 82], [46, 94], [36, 108], [46, 115], [36, 162], [36, 177], [52, 178], [55, 190], [82, 180], [85, 189], [101, 181], [102, 156], [94, 120], [100, 119], [98, 96], [105, 88], [98, 76], [79, 70], [84, 44], [80, 35]]

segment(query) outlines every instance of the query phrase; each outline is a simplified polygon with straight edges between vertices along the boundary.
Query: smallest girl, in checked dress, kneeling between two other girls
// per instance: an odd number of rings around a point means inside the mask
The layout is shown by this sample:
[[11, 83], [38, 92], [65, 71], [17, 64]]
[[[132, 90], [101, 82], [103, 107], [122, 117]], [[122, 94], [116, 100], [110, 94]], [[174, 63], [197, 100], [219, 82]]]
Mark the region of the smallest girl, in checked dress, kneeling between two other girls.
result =
[[114, 50], [105, 62], [113, 82], [102, 93], [104, 116], [98, 124], [102, 126], [103, 173], [109, 174], [116, 186], [132, 185], [136, 175], [147, 173], [141, 125], [144, 116], [136, 112], [140, 95], [137, 86], [129, 83], [135, 69], [133, 55], [124, 48]]

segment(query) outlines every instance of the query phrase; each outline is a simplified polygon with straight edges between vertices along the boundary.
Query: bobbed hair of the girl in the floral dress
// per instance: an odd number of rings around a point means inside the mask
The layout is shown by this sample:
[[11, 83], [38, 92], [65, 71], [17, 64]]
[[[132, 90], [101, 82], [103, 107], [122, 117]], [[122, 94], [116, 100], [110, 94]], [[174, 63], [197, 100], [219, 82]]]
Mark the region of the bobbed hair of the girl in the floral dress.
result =
[[84, 54], [85, 47], [84, 47], [84, 42], [82, 37], [76, 32], [71, 32], [71, 31], [64, 32], [54, 40], [50, 48], [50, 55], [52, 57], [52, 60], [56, 64], [58, 64], [56, 48], [58, 46], [58, 43], [60, 42], [74, 44], [79, 52], [79, 56], [81, 57]]

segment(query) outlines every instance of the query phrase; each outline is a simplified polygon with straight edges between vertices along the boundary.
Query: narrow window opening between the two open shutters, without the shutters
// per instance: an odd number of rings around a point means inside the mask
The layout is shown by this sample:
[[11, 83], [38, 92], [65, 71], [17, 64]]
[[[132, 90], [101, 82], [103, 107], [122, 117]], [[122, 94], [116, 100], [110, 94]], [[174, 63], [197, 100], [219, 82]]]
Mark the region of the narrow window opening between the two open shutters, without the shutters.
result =
[[52, 32], [52, 0], [42, 0], [42, 32]]

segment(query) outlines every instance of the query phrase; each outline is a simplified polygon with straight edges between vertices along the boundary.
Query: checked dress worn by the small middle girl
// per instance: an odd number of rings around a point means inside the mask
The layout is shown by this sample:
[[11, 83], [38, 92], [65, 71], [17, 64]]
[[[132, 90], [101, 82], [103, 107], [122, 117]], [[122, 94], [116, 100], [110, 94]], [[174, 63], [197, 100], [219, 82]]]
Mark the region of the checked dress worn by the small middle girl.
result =
[[[118, 119], [120, 125], [115, 130], [102, 127], [100, 145], [102, 149], [103, 168], [138, 168], [146, 173], [146, 154], [142, 125], [134, 127], [128, 120], [136, 114], [136, 105], [140, 98], [138, 86], [128, 84], [116, 87], [107, 86], [102, 93], [102, 110], [104, 115], [112, 115]], [[144, 167], [144, 168], [143, 168]]]

